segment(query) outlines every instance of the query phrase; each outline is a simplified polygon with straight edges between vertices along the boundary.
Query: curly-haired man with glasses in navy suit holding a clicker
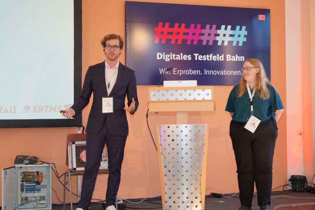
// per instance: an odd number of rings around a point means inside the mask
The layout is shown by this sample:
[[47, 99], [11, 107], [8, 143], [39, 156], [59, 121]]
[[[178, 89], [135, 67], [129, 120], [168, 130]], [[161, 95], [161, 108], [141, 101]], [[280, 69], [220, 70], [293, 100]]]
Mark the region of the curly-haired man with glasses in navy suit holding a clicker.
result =
[[[114, 203], [129, 131], [126, 111], [134, 114], [139, 105], [135, 71], [119, 62], [119, 55], [123, 49], [122, 38], [116, 34], [109, 34], [102, 39], [101, 44], [106, 60], [89, 67], [79, 98], [70, 109], [62, 110], [65, 111], [63, 116], [75, 117], [89, 104], [93, 92], [93, 103], [86, 126], [87, 163], [77, 210], [89, 208], [105, 143], [109, 168], [106, 210], [116, 210]], [[126, 95], [128, 107], [125, 107]]]

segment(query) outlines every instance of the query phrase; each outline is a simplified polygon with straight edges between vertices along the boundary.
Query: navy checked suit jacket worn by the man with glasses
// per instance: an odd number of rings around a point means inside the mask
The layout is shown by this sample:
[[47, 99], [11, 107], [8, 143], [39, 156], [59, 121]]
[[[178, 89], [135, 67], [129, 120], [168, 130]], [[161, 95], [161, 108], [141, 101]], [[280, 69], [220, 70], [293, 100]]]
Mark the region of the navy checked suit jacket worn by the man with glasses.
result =
[[[77, 101], [72, 105], [76, 114], [80, 113], [89, 104], [93, 92], [93, 103], [86, 125], [87, 133], [98, 133], [106, 116], [107, 128], [112, 135], [128, 135], [129, 128], [125, 107], [127, 95], [128, 106], [135, 99], [135, 111], [138, 108], [138, 96], [135, 71], [119, 63], [117, 80], [109, 96], [114, 97], [114, 112], [102, 113], [102, 97], [107, 96], [105, 82], [105, 61], [89, 66], [86, 72], [82, 92]], [[135, 112], [134, 111], [134, 112]], [[131, 114], [134, 114], [131, 112]]]

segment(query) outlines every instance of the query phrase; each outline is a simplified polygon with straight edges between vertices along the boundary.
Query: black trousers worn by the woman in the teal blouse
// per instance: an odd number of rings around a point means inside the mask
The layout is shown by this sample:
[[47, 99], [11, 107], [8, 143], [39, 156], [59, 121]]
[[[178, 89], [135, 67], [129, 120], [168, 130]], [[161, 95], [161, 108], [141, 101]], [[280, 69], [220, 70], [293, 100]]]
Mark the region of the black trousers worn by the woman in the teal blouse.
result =
[[267, 202], [270, 205], [272, 188], [272, 159], [278, 136], [274, 118], [261, 122], [255, 133], [244, 128], [245, 122], [232, 120], [230, 137], [238, 173], [238, 188], [241, 205], [252, 206], [254, 181], [256, 184], [258, 205]]

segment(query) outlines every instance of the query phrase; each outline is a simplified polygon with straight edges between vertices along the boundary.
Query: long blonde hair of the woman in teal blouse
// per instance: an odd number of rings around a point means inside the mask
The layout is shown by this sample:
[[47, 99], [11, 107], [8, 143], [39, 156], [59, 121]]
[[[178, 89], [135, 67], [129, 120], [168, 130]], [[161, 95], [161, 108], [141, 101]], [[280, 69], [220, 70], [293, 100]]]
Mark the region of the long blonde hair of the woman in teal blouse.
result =
[[[251, 65], [255, 66], [256, 68], [259, 68], [258, 73], [256, 74], [256, 83], [253, 88], [255, 88], [255, 93], [258, 94], [258, 96], [266, 100], [270, 97], [269, 90], [267, 88], [267, 84], [271, 84], [266, 76], [266, 71], [264, 66], [262, 65], [261, 61], [255, 58], [249, 58], [245, 60], [244, 62], [248, 61]], [[237, 89], [237, 96], [238, 98], [241, 98], [246, 90], [246, 80], [244, 80], [244, 77], [241, 78], [241, 81], [239, 82], [239, 86]]]

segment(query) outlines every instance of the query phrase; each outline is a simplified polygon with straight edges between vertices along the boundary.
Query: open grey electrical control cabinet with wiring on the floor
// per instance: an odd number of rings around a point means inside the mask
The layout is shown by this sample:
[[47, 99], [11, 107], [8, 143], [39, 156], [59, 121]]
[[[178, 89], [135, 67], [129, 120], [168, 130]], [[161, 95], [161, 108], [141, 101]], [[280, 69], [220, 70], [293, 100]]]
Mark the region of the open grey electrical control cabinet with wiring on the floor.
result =
[[48, 164], [2, 169], [2, 210], [51, 210], [51, 168]]

